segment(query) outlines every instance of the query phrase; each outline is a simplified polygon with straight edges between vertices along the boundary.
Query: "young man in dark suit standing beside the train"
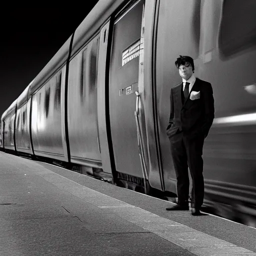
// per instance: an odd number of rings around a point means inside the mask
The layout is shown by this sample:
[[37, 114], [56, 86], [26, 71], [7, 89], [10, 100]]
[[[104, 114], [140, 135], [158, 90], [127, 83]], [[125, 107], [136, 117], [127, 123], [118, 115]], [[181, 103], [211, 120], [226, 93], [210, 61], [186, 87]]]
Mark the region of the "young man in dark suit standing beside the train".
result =
[[191, 214], [200, 215], [204, 181], [202, 147], [214, 118], [211, 84], [195, 78], [190, 56], [175, 61], [182, 81], [170, 90], [170, 116], [166, 133], [177, 179], [177, 204], [166, 210], [188, 210], [189, 177], [192, 177]]

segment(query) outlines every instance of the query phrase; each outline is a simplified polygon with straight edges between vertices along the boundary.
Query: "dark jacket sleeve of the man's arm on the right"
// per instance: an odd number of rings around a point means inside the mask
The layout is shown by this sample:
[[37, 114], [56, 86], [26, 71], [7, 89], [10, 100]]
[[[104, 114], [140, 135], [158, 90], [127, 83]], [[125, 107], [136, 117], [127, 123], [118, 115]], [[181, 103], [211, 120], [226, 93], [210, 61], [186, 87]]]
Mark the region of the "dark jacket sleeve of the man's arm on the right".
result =
[[202, 125], [202, 132], [204, 137], [208, 135], [209, 129], [214, 119], [214, 98], [213, 91], [210, 83], [205, 84], [202, 93], [203, 104], [204, 104], [204, 122]]

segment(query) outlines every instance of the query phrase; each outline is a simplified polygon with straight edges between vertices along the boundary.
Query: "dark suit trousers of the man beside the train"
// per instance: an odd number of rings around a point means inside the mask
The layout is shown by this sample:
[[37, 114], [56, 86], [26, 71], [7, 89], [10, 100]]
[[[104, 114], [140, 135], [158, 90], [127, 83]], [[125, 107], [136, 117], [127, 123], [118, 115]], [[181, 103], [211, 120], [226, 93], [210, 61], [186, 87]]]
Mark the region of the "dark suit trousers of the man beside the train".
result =
[[200, 208], [204, 196], [204, 181], [202, 175], [202, 147], [204, 135], [198, 135], [189, 139], [189, 136], [184, 136], [183, 132], [180, 132], [169, 137], [169, 140], [177, 178], [178, 204], [188, 204], [189, 167], [192, 178], [191, 207]]

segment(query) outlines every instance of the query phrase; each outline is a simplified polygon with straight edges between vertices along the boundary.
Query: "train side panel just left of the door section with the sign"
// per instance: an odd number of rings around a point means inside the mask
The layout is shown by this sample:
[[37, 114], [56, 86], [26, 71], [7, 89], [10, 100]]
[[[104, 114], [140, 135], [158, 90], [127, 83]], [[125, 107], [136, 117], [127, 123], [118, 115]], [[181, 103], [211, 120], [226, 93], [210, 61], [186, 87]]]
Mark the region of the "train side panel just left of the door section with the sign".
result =
[[67, 125], [72, 162], [101, 167], [97, 121], [97, 59], [99, 35], [69, 63]]

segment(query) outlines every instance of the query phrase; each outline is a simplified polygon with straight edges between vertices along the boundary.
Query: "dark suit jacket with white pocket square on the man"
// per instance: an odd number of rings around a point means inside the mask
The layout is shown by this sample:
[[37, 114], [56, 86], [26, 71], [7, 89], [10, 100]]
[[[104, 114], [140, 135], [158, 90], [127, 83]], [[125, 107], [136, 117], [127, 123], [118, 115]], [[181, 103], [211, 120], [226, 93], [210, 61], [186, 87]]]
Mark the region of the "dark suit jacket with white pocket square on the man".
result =
[[[199, 91], [200, 97], [193, 99], [191, 97], [192, 91]], [[196, 78], [186, 100], [182, 100], [182, 97], [183, 85], [180, 82], [170, 90], [170, 116], [166, 128], [168, 137], [180, 131], [189, 138], [201, 134], [206, 137], [214, 119], [214, 99], [211, 84]]]

